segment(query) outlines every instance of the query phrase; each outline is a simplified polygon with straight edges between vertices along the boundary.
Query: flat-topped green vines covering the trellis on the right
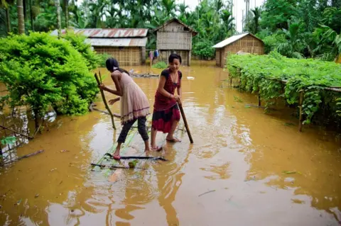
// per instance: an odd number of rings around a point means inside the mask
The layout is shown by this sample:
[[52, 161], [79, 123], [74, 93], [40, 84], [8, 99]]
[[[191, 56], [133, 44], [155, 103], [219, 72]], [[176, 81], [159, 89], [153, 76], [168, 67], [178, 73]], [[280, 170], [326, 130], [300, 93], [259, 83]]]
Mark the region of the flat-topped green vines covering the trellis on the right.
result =
[[279, 97], [286, 98], [290, 105], [297, 105], [303, 91], [304, 123], [310, 123], [317, 114], [340, 125], [337, 114], [341, 110], [341, 94], [324, 89], [341, 86], [340, 64], [290, 59], [271, 52], [270, 55], [231, 55], [227, 67], [232, 77], [241, 80], [242, 89], [259, 91], [268, 105]]

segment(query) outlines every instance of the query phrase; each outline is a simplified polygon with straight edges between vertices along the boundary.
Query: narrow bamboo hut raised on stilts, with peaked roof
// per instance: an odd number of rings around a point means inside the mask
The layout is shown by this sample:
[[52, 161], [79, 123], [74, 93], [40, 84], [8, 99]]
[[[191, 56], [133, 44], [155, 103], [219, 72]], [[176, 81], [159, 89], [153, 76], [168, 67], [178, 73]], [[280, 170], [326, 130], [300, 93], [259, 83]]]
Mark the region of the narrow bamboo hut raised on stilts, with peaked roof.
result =
[[168, 56], [175, 52], [181, 56], [183, 65], [190, 66], [192, 38], [197, 32], [176, 18], [167, 21], [155, 31], [160, 60], [168, 62]]

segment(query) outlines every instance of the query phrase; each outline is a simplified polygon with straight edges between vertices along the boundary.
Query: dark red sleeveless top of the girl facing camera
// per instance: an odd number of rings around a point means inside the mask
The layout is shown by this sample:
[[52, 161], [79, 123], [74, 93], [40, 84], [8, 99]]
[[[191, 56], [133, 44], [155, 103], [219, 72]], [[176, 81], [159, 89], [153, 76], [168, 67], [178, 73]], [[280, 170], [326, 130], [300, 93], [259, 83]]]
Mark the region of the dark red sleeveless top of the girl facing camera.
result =
[[[175, 89], [178, 88], [181, 84], [181, 78], [183, 77], [183, 74], [180, 71], [178, 71], [177, 83], [173, 83], [169, 69], [164, 69], [161, 72], [161, 76], [166, 77], [166, 83], [165, 86], [163, 86], [163, 89], [168, 91], [168, 93], [174, 95]], [[160, 92], [156, 91], [154, 111], [165, 111], [168, 108], [175, 106], [175, 104], [176, 101], [174, 99], [171, 99], [168, 96], [163, 96]]]

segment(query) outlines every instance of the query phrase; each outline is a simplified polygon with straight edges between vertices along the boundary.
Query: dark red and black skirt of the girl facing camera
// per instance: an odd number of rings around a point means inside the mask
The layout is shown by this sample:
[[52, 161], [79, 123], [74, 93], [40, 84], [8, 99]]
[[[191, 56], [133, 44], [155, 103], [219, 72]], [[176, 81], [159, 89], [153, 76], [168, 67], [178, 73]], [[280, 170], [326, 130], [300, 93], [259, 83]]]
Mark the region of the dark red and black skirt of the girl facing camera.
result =
[[171, 131], [174, 121], [180, 120], [178, 104], [166, 109], [165, 111], [153, 111], [152, 128], [163, 133]]

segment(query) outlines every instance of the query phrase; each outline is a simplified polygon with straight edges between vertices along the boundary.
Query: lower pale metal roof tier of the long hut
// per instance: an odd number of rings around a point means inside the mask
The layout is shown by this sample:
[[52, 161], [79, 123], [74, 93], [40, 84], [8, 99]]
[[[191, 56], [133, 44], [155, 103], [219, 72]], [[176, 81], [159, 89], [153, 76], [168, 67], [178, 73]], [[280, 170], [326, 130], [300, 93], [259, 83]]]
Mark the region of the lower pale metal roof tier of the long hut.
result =
[[92, 46], [145, 47], [147, 38], [87, 38], [85, 42]]

